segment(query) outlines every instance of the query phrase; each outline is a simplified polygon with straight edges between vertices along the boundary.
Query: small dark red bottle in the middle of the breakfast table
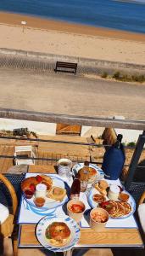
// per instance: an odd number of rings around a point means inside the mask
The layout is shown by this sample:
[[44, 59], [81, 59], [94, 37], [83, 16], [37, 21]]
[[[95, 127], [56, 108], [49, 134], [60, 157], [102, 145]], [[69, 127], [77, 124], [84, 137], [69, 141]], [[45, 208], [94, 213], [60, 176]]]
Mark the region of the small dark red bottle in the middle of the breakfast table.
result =
[[79, 200], [80, 191], [81, 191], [81, 182], [79, 179], [79, 174], [76, 173], [75, 179], [74, 179], [71, 189], [70, 189], [70, 200], [72, 200], [72, 199]]

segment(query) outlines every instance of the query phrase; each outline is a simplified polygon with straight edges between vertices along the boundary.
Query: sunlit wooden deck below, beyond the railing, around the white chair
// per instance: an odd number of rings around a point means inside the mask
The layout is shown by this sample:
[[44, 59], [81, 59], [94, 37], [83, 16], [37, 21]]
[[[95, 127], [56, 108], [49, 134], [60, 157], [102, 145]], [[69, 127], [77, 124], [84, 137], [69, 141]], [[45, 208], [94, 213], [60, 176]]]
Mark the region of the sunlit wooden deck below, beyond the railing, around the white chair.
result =
[[[40, 136], [40, 139], [47, 139], [53, 141], [65, 141], [75, 143], [87, 143], [85, 137], [79, 136]], [[36, 160], [36, 165], [48, 166], [56, 165], [60, 158], [69, 158], [75, 162], [91, 160], [92, 150], [90, 146], [66, 144], [66, 143], [47, 143], [47, 142], [27, 142], [22, 140], [9, 140], [0, 139], [0, 154], [1, 155], [14, 155], [14, 147], [18, 145], [33, 145], [36, 157], [42, 158], [42, 160]], [[44, 160], [54, 159], [54, 160]], [[0, 172], [8, 172], [8, 168], [13, 166], [13, 159], [0, 158]]]

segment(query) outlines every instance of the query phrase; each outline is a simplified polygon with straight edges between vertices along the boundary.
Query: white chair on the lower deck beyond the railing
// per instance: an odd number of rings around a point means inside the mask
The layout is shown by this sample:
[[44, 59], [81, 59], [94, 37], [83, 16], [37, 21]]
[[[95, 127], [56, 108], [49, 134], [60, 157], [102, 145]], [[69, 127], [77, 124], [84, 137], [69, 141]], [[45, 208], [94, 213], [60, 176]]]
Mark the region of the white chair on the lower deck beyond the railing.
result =
[[29, 157], [29, 154], [31, 158], [36, 157], [31, 146], [16, 146], [14, 151], [15, 165], [35, 165], [35, 160], [25, 159]]

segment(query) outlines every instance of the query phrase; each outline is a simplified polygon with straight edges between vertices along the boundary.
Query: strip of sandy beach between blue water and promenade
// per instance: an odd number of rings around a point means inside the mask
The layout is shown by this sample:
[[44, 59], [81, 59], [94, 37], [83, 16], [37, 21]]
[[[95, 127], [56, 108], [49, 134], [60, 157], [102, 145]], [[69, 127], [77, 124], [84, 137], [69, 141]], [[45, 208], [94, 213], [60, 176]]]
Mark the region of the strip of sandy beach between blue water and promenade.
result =
[[0, 34], [0, 48], [145, 65], [145, 34], [2, 12]]

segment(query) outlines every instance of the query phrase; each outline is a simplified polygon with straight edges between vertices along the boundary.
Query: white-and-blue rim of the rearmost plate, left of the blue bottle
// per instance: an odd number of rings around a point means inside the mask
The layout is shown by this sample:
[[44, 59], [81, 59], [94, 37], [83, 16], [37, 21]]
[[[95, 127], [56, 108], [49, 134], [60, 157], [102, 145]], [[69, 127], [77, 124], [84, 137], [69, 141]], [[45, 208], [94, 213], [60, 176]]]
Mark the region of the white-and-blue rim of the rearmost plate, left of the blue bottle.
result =
[[[77, 172], [79, 172], [83, 166], [84, 166], [84, 163], [78, 163], [75, 166], [73, 166], [73, 168], [72, 168], [73, 174], [75, 175]], [[92, 167], [93, 169], [95, 169], [97, 171], [98, 179], [102, 179], [104, 177], [104, 173], [101, 168], [99, 168], [98, 166], [91, 164], [91, 163], [89, 164], [89, 167]]]

